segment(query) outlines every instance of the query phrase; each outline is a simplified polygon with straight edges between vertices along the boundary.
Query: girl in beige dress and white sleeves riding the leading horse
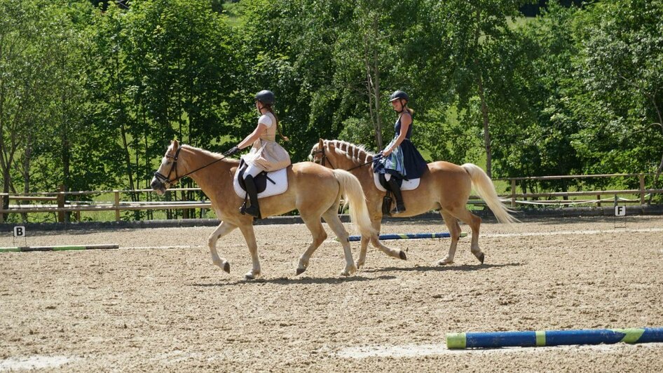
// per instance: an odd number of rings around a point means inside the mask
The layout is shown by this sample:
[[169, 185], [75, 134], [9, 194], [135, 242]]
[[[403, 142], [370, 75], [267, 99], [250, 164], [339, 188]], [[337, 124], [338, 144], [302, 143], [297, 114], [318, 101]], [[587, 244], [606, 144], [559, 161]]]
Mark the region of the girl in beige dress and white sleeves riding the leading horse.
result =
[[240, 151], [240, 149], [253, 144], [249, 154], [242, 156], [242, 159], [247, 164], [247, 168], [244, 170], [244, 181], [247, 194], [251, 201], [251, 205], [245, 208], [242, 214], [246, 212], [258, 218], [261, 216], [258, 205], [258, 193], [253, 178], [260, 172], [280, 170], [286, 168], [291, 163], [288, 152], [276, 143], [277, 132], [283, 140], [288, 141], [288, 138], [281, 135], [278, 118], [272, 109], [275, 101], [274, 93], [270, 90], [261, 90], [256, 94], [256, 109], [260, 114], [258, 126], [242, 142], [226, 153], [228, 156], [231, 156]]

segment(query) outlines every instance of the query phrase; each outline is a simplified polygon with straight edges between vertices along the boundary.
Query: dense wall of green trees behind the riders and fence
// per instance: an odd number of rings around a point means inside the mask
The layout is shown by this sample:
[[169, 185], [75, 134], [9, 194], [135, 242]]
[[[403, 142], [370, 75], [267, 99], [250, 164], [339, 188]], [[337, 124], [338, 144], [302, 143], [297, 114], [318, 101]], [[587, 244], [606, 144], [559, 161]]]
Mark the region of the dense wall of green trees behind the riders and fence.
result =
[[320, 137], [381, 149], [403, 89], [430, 161], [661, 172], [663, 0], [525, 20], [528, 2], [0, 0], [3, 191], [145, 188], [172, 138], [224, 151], [250, 133], [261, 89], [294, 161]]

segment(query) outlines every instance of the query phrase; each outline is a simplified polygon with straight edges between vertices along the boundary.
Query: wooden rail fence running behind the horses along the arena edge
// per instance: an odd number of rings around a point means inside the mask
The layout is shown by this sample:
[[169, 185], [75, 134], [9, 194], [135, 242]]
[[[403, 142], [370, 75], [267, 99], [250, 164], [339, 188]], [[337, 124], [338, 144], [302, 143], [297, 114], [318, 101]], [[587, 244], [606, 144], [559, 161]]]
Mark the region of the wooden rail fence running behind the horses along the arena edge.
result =
[[[517, 208], [519, 205], [579, 205], [579, 204], [594, 204], [601, 206], [601, 203], [607, 201], [614, 201], [617, 198], [620, 203], [638, 203], [645, 204], [646, 196], [650, 194], [663, 194], [663, 189], [646, 189], [645, 176], [653, 174], [610, 174], [610, 175], [563, 175], [563, 176], [543, 176], [543, 177], [510, 177], [505, 179], [495, 179], [506, 181], [510, 184], [510, 194], [501, 194], [500, 198], [503, 201], [510, 201], [512, 208]], [[616, 177], [638, 177], [638, 189], [615, 189], [615, 190], [599, 190], [599, 191], [561, 191], [561, 192], [547, 192], [547, 193], [518, 193], [517, 189], [519, 182], [542, 182], [549, 180], [559, 179], [586, 179], [586, 178], [616, 178]], [[182, 191], [200, 191], [199, 188], [176, 188], [170, 189], [167, 193], [177, 195], [177, 192]], [[175, 192], [175, 193], [173, 193]], [[36, 212], [52, 212], [57, 215], [58, 222], [67, 221], [67, 213], [74, 213], [74, 219], [80, 220], [81, 212], [99, 212], [99, 211], [114, 211], [115, 220], [121, 219], [122, 211], [131, 210], [191, 210], [191, 209], [210, 209], [212, 204], [207, 199], [202, 201], [141, 201], [151, 198], [137, 198], [139, 201], [126, 201], [125, 196], [141, 196], [142, 194], [151, 194], [151, 189], [136, 189], [136, 190], [111, 190], [111, 191], [59, 191], [59, 192], [45, 192], [35, 194], [0, 194], [0, 198], [7, 198], [10, 201], [9, 208], [0, 209], [0, 223], [4, 222], [8, 214], [34, 214]], [[99, 196], [101, 194], [111, 194], [114, 201], [98, 202], [98, 201], [74, 201], [72, 196]], [[185, 194], [182, 194], [184, 196]], [[638, 198], [624, 198], [623, 196], [638, 196]], [[596, 199], [568, 199], [570, 197], [578, 196], [592, 196]], [[601, 197], [608, 198], [603, 198]], [[619, 197], [622, 196], [622, 197]], [[468, 202], [471, 205], [483, 205], [477, 196], [471, 196]], [[529, 198], [529, 200], [528, 200]], [[544, 199], [542, 199], [544, 198]], [[563, 199], [559, 199], [563, 198]], [[30, 204], [12, 204], [11, 201], [29, 201]], [[39, 204], [32, 204], [38, 202]]]

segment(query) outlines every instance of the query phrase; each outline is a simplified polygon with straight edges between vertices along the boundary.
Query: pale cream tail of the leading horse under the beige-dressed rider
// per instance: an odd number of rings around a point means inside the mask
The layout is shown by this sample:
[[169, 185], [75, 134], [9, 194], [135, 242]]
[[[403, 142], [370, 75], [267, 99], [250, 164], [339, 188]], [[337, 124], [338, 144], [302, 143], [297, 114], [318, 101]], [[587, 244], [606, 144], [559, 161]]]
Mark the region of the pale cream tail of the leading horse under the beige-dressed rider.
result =
[[346, 170], [332, 170], [332, 172], [341, 185], [341, 194], [344, 196], [343, 205], [350, 205], [350, 219], [357, 224], [362, 236], [371, 237], [376, 234], [371, 224], [366, 196], [359, 179]]

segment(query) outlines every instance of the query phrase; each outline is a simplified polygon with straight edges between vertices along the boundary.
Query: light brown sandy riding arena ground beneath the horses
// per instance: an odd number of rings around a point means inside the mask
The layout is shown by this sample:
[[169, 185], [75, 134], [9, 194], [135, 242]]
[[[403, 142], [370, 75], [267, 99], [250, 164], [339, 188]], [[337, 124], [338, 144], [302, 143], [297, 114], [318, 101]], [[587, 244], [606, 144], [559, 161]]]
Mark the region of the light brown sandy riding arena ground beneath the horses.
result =
[[[446, 231], [432, 223], [390, 222], [383, 233]], [[448, 332], [663, 326], [663, 217], [618, 223], [485, 222], [483, 265], [469, 238], [449, 266], [436, 265], [449, 240], [385, 241], [407, 249], [407, 262], [371, 248], [350, 278], [330, 239], [294, 276], [306, 227], [257, 226], [263, 277], [252, 282], [238, 231], [218, 244], [230, 275], [212, 265], [212, 227], [28, 232], [28, 245], [122, 248], [0, 253], [0, 370], [660, 371], [663, 344], [444, 345]]]

